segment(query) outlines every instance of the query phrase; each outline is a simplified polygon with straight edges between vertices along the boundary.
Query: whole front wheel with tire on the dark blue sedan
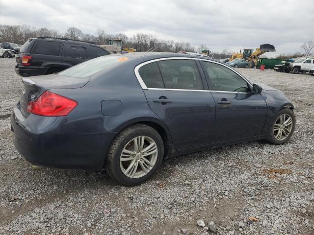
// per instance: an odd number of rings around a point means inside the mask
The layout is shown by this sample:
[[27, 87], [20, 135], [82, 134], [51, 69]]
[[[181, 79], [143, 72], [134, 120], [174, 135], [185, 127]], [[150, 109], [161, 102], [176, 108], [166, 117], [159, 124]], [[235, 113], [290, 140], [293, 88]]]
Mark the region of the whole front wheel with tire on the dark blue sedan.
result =
[[273, 144], [286, 143], [292, 136], [295, 128], [295, 115], [291, 109], [281, 110], [272, 124], [268, 141]]

